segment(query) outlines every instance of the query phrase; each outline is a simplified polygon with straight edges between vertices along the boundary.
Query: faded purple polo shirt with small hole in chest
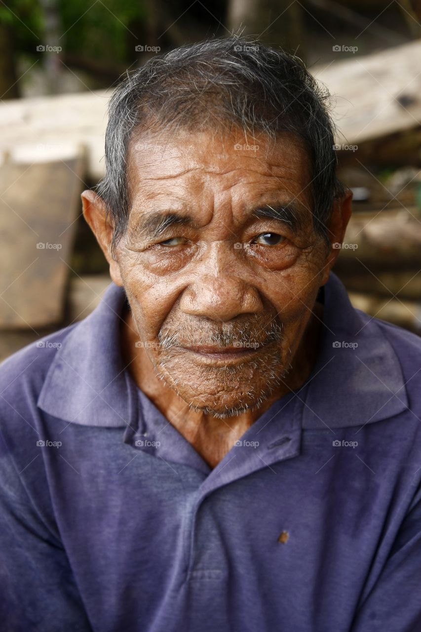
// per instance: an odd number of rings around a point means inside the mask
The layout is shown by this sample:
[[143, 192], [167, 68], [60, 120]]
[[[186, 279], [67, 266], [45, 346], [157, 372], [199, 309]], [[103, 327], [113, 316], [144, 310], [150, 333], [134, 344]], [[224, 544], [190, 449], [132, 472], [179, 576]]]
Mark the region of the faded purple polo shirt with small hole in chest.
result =
[[211, 470], [124, 367], [124, 302], [0, 368], [2, 629], [419, 632], [421, 340], [331, 274], [312, 374]]

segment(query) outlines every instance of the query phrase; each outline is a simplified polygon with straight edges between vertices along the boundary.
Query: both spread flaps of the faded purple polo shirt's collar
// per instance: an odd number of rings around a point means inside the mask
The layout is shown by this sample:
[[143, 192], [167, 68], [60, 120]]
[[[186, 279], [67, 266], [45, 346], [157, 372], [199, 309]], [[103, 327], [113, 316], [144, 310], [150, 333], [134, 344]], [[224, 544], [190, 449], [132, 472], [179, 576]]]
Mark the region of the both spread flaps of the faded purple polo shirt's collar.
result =
[[[317, 363], [296, 391], [303, 428], [362, 426], [408, 407], [400, 362], [377, 321], [355, 310], [331, 273], [324, 292]], [[138, 427], [138, 392], [119, 349], [126, 301], [111, 283], [101, 303], [73, 327], [47, 371], [37, 405], [68, 422]]]

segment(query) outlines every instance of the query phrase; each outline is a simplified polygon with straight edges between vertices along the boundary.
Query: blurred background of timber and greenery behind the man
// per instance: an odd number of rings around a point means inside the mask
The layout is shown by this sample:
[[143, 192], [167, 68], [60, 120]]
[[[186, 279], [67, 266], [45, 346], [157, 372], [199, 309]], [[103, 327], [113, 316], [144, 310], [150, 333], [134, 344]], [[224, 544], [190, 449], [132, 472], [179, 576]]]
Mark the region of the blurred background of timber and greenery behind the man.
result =
[[80, 193], [127, 69], [232, 30], [333, 95], [355, 307], [421, 334], [421, 0], [0, 0], [0, 359], [85, 317], [110, 279]]

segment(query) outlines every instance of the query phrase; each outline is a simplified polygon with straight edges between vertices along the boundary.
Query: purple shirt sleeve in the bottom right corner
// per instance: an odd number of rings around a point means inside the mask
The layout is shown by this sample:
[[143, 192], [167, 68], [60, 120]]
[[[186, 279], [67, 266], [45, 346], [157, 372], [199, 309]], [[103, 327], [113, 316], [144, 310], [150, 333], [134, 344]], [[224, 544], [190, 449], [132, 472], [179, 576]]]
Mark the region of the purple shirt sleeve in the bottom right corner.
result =
[[421, 631], [421, 489], [350, 632]]

